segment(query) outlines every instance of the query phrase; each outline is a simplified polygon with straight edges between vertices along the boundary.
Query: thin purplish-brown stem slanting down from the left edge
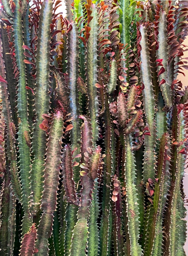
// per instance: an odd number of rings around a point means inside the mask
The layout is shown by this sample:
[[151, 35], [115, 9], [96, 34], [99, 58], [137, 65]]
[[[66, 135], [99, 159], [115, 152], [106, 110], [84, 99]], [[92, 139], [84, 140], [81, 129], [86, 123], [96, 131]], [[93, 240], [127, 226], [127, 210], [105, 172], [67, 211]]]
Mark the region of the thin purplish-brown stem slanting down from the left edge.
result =
[[[2, 41], [0, 39], [1, 53], [2, 53], [2, 50], [3, 50]], [[2, 75], [3, 79], [6, 79], [4, 62], [2, 57], [0, 57], [0, 74]], [[2, 120], [4, 119], [5, 131], [7, 133], [5, 135], [6, 155], [8, 158], [7, 165], [8, 167], [10, 167], [10, 177], [11, 177], [11, 183], [12, 183], [14, 194], [19, 200], [21, 200], [21, 187], [20, 187], [20, 181], [18, 176], [17, 155], [16, 155], [15, 138], [14, 138], [15, 134], [14, 134], [14, 131], [12, 130], [12, 127], [14, 126], [14, 124], [13, 124], [12, 113], [10, 108], [7, 82], [1, 82], [0, 88], [1, 88], [1, 100], [2, 100], [2, 103], [1, 103], [2, 113], [3, 113], [3, 116], [1, 118]]]

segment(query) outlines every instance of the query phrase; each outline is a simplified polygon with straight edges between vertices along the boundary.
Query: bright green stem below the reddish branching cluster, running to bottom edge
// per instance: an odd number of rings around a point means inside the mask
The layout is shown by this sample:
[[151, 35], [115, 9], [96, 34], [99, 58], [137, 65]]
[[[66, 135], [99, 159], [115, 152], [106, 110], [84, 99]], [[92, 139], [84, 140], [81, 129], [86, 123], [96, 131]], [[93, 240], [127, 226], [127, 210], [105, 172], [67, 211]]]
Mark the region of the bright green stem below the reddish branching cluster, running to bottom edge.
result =
[[131, 135], [126, 135], [126, 161], [125, 161], [125, 183], [126, 183], [126, 208], [128, 216], [128, 233], [130, 236], [130, 254], [133, 256], [143, 255], [141, 246], [139, 245], [139, 208], [137, 189], [135, 185], [136, 166], [134, 154], [131, 149]]

